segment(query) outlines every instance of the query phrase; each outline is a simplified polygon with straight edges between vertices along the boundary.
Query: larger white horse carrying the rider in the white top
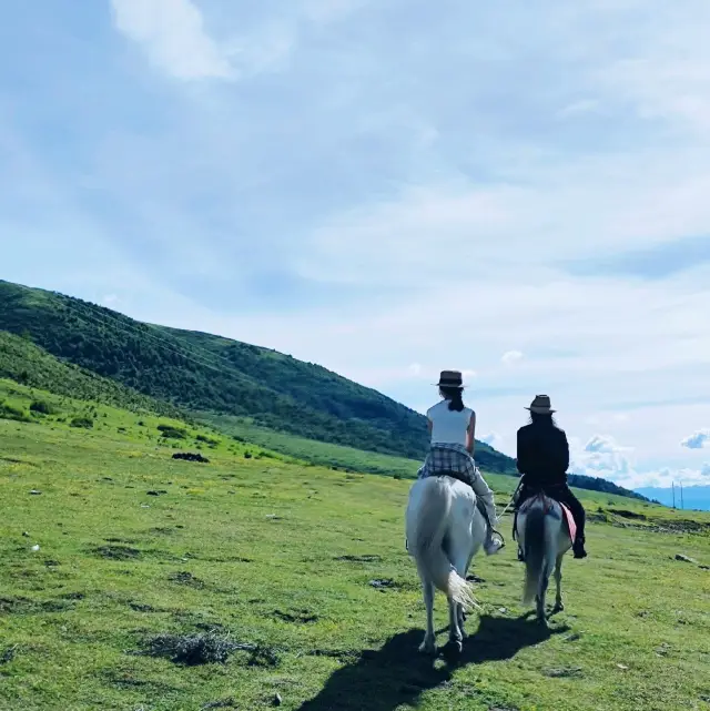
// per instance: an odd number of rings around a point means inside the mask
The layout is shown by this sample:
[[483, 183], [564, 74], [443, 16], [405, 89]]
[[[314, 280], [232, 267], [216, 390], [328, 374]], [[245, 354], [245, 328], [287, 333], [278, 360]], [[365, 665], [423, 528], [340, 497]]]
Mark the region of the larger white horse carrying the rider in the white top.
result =
[[487, 522], [476, 507], [473, 489], [448, 476], [417, 479], [409, 490], [406, 536], [426, 605], [426, 633], [420, 652], [436, 653], [435, 589], [448, 599], [449, 646], [463, 650], [464, 611], [478, 607], [466, 581], [470, 561], [486, 538]]

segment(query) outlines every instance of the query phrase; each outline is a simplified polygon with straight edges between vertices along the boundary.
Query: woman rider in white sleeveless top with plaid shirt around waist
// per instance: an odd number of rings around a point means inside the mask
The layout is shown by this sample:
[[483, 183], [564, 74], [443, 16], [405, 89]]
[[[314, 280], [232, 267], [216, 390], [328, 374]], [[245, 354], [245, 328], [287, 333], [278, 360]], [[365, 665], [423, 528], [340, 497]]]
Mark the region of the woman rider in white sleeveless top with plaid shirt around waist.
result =
[[476, 413], [464, 405], [464, 383], [458, 370], [443, 370], [437, 383], [442, 400], [427, 410], [430, 451], [419, 477], [453, 473], [476, 494], [476, 505], [488, 522], [484, 548], [489, 556], [498, 552], [503, 541], [493, 536], [497, 524], [493, 491], [480, 476], [474, 450]]

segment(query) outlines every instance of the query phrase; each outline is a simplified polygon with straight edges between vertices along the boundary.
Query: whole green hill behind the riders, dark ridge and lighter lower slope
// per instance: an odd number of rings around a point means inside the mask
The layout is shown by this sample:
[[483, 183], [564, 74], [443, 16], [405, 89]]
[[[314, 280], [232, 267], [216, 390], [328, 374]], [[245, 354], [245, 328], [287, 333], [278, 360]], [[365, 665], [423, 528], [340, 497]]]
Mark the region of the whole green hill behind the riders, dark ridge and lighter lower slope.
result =
[[[409, 477], [427, 448], [424, 417], [321, 366], [2, 281], [0, 377], [200, 418], [237, 439], [342, 469]], [[486, 471], [517, 474], [513, 459], [484, 443], [476, 459]], [[570, 481], [643, 498], [604, 479]]]

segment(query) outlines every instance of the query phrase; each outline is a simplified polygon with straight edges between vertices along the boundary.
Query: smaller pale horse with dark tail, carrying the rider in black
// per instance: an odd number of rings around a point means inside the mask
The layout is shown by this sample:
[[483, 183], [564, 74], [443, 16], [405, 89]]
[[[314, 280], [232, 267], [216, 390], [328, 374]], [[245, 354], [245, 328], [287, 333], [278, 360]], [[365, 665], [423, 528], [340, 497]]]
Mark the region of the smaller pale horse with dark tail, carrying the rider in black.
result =
[[537, 602], [537, 619], [547, 627], [545, 595], [555, 570], [557, 597], [552, 613], [561, 612], [562, 558], [572, 547], [565, 525], [562, 507], [548, 496], [537, 495], [525, 501], [518, 511], [516, 535], [525, 556], [525, 590], [523, 603]]

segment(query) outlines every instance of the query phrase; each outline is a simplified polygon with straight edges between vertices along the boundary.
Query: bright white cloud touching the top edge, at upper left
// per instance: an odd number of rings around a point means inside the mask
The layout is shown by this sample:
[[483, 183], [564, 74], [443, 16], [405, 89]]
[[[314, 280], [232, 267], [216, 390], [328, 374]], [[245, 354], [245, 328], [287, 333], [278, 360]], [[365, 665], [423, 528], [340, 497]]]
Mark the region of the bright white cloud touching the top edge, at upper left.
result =
[[230, 79], [225, 50], [206, 32], [191, 0], [111, 0], [115, 28], [176, 79]]

